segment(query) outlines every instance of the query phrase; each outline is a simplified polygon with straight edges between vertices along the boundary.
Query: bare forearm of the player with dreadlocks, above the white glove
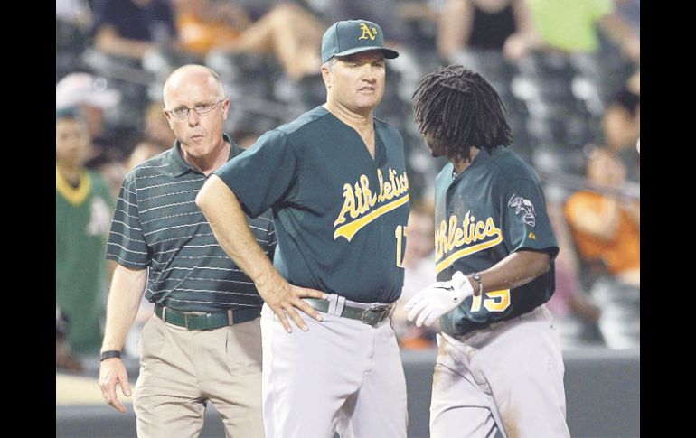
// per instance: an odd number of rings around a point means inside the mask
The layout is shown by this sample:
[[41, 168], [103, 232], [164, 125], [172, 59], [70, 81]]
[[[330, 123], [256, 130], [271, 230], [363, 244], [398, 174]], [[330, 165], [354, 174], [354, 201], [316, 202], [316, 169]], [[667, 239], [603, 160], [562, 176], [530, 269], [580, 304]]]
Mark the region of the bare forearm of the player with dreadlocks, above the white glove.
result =
[[[513, 289], [531, 282], [544, 274], [550, 268], [550, 256], [537, 251], [516, 251], [506, 256], [494, 266], [480, 272], [484, 292]], [[478, 294], [478, 286], [468, 275], [474, 291]]]

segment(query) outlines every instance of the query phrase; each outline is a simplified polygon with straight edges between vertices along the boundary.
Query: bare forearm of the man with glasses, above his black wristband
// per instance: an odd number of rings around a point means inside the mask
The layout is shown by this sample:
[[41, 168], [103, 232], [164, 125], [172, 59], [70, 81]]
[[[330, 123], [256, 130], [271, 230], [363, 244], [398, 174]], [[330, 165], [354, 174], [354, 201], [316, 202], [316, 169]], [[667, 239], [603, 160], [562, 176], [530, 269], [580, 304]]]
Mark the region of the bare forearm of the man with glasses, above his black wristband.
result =
[[101, 350], [123, 349], [126, 336], [136, 319], [147, 283], [146, 269], [129, 269], [118, 265], [108, 293], [107, 324]]

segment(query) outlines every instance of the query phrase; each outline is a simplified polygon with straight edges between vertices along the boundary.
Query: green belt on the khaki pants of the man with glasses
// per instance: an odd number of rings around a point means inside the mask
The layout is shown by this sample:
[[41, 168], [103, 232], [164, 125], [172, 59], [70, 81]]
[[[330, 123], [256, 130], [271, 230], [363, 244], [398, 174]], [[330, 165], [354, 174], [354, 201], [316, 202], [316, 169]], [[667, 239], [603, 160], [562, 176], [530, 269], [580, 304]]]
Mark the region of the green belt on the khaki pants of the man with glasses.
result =
[[228, 325], [259, 318], [260, 307], [248, 307], [223, 312], [178, 312], [155, 304], [155, 315], [162, 321], [188, 330], [214, 330]]

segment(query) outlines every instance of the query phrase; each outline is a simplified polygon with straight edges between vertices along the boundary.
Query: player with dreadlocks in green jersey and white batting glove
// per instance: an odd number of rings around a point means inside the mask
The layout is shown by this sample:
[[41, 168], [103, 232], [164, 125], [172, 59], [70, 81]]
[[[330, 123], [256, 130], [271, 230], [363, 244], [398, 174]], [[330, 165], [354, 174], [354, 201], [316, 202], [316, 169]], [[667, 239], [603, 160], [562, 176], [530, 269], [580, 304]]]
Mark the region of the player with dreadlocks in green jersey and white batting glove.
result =
[[419, 326], [440, 322], [430, 436], [569, 436], [544, 305], [559, 248], [533, 169], [507, 147], [503, 102], [452, 65], [421, 80], [413, 107], [432, 155], [450, 161], [435, 187], [438, 282], [405, 307]]

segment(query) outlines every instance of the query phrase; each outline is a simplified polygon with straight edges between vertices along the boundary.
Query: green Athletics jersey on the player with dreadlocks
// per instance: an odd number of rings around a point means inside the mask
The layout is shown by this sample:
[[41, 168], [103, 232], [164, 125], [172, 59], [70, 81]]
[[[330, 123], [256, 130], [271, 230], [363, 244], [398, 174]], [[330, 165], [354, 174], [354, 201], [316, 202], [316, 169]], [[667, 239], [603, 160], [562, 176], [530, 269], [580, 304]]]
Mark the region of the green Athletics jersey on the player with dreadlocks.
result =
[[530, 312], [555, 288], [553, 260], [559, 248], [541, 185], [528, 164], [505, 147], [481, 150], [453, 177], [447, 164], [435, 187], [435, 263], [438, 281], [456, 271], [484, 271], [519, 250], [549, 253], [549, 272], [513, 289], [470, 296], [440, 319], [442, 331], [464, 334]]

